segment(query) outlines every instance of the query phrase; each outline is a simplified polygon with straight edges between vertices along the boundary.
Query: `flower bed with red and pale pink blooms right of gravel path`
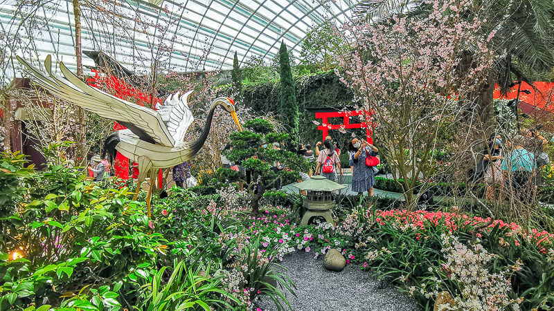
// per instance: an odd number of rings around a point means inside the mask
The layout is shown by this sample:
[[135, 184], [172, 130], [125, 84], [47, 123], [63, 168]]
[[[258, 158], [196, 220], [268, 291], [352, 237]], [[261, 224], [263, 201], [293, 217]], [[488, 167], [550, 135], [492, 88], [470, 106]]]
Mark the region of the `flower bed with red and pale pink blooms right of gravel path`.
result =
[[370, 225], [355, 244], [366, 251], [362, 269], [392, 277], [422, 305], [443, 291], [463, 310], [554, 304], [554, 234], [494, 220], [474, 242], [488, 218], [407, 210], [363, 217]]

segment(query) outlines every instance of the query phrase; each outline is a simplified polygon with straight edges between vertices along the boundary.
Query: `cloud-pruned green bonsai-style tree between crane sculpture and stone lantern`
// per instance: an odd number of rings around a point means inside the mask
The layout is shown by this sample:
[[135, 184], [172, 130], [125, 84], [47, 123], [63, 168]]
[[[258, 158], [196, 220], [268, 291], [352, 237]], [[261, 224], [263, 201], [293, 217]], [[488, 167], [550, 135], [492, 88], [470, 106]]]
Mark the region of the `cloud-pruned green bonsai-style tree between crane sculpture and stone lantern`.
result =
[[[251, 198], [252, 214], [260, 213], [260, 198], [267, 189], [275, 187], [280, 180], [299, 180], [300, 171], [307, 171], [310, 162], [297, 153], [285, 149], [274, 149], [274, 142], [281, 146], [290, 142], [289, 134], [275, 133], [274, 126], [263, 119], [254, 119], [244, 123], [245, 130], [231, 134], [231, 151], [226, 157], [251, 172], [251, 182], [247, 176], [231, 169], [218, 169], [220, 178], [230, 182], [244, 182], [244, 189]], [[273, 167], [280, 169], [275, 170]]]

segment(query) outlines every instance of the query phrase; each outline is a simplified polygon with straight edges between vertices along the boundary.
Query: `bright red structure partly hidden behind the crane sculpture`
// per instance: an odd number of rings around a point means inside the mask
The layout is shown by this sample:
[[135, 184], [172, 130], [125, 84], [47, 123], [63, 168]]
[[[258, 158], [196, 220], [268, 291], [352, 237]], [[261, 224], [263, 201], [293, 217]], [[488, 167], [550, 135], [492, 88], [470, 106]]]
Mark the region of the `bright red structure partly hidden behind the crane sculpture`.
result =
[[[132, 97], [136, 100], [136, 104], [139, 104], [141, 106], [144, 106], [146, 103], [150, 104], [161, 102], [158, 97], [155, 97], [152, 101], [152, 97], [150, 95], [146, 95], [133, 86], [129, 86], [129, 84], [121, 81], [113, 75], [103, 76], [98, 70], [92, 69], [91, 71], [94, 73], [94, 77], [87, 78], [87, 84], [89, 84], [90, 86], [100, 88], [101, 85], [105, 85], [107, 86], [107, 88], [114, 91], [115, 97], [118, 97], [122, 100], [127, 100], [129, 97]], [[118, 131], [120, 129], [125, 129], [125, 126], [119, 124], [118, 122], [114, 122], [114, 130]], [[117, 153], [116, 159], [114, 160], [114, 171], [115, 175], [118, 178], [122, 178], [124, 180], [129, 179], [129, 159], [125, 158], [125, 156], [123, 156], [119, 152]], [[160, 169], [158, 180], [162, 180], [162, 178], [163, 176]], [[161, 189], [161, 187], [162, 183], [159, 182], [159, 188]]]

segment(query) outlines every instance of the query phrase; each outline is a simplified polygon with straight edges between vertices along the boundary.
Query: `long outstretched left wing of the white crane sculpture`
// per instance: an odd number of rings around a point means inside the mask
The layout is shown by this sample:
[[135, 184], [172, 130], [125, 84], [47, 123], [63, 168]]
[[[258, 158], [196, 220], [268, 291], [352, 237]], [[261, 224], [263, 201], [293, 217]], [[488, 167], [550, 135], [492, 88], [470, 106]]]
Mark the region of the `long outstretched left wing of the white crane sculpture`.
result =
[[[30, 70], [30, 73], [36, 79], [35, 82], [46, 88], [53, 95], [62, 98], [62, 100], [72, 102], [77, 106], [100, 115], [100, 117], [117, 121], [145, 142], [162, 144], [168, 147], [175, 146], [176, 140], [174, 137], [179, 137], [175, 133], [180, 135], [180, 131], [175, 131], [172, 135], [158, 111], [127, 102], [126, 100], [120, 100], [113, 95], [98, 90], [98, 88], [89, 86], [73, 74], [63, 62], [60, 62], [60, 70], [62, 70], [64, 77], [52, 73], [50, 55], [44, 60], [44, 66], [49, 77], [44, 75], [35, 66], [25, 62], [21, 57], [18, 56], [17, 60]], [[179, 109], [183, 108], [179, 107]], [[175, 109], [175, 113], [179, 109]], [[190, 113], [188, 106], [186, 106], [186, 109]], [[192, 113], [190, 113], [190, 119], [192, 119]], [[192, 122], [193, 120], [190, 120], [188, 125]], [[178, 126], [178, 124], [175, 124], [175, 126]]]

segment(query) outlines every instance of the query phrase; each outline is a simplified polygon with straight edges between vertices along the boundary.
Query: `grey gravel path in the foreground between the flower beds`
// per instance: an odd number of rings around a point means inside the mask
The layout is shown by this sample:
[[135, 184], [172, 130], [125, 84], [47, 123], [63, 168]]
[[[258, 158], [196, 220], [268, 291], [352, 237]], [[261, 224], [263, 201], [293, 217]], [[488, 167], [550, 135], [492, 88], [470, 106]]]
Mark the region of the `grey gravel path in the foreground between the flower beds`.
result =
[[[314, 252], [303, 250], [290, 254], [280, 263], [296, 285], [296, 297], [285, 293], [292, 310], [420, 310], [409, 296], [395, 291], [395, 287], [377, 280], [359, 265], [347, 265], [341, 272], [323, 267], [323, 259], [314, 259]], [[269, 296], [258, 301], [262, 310], [277, 310]]]

